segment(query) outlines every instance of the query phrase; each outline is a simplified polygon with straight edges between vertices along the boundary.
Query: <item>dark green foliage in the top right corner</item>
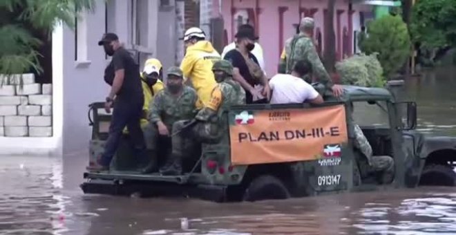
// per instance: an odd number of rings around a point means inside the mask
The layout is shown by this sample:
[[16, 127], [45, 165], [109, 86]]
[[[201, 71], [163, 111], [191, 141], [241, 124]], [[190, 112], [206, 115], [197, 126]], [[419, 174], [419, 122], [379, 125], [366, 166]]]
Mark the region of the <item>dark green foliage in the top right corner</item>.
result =
[[420, 0], [412, 8], [412, 40], [430, 50], [456, 46], [456, 1]]

